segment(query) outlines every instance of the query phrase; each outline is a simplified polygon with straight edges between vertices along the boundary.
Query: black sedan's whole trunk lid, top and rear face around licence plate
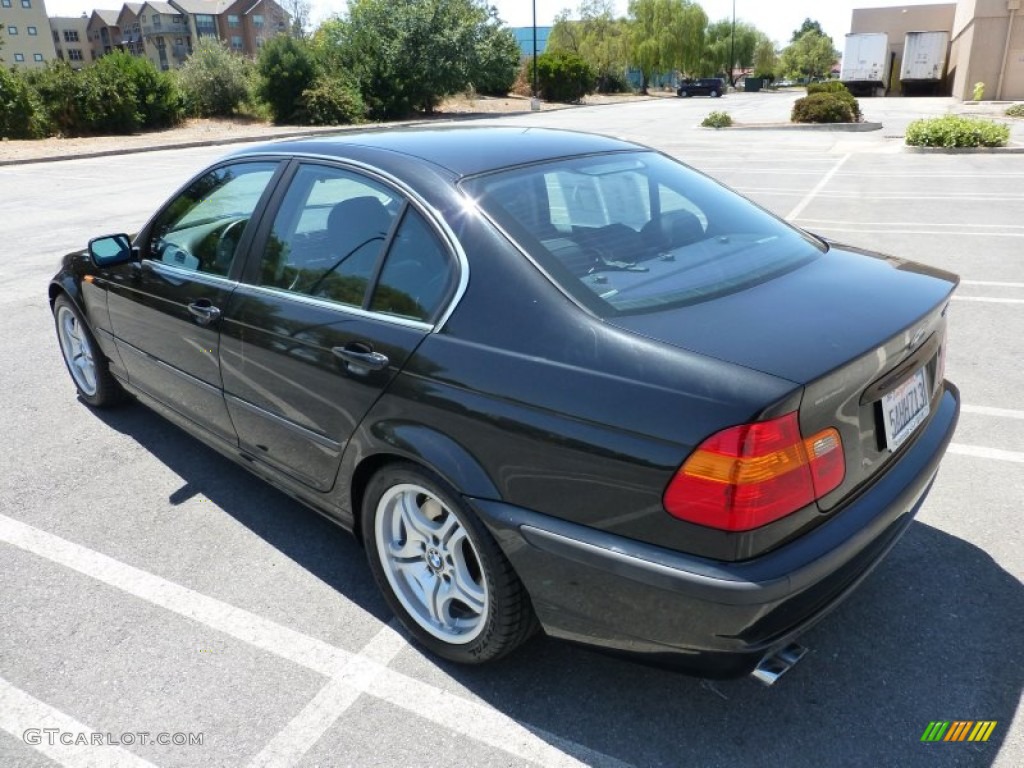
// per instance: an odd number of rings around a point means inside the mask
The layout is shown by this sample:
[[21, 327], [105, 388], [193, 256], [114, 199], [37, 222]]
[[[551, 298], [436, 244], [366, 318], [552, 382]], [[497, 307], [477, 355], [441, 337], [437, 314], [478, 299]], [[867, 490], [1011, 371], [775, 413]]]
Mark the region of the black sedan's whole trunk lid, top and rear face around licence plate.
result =
[[[922, 264], [833, 245], [820, 258], [746, 290], [608, 322], [803, 386], [803, 434], [835, 427], [843, 440], [846, 476], [818, 501], [827, 511], [894, 454], [883, 416], [888, 393], [921, 371], [914, 396], [934, 407], [945, 309], [957, 282]], [[886, 401], [898, 426], [892, 397]]]

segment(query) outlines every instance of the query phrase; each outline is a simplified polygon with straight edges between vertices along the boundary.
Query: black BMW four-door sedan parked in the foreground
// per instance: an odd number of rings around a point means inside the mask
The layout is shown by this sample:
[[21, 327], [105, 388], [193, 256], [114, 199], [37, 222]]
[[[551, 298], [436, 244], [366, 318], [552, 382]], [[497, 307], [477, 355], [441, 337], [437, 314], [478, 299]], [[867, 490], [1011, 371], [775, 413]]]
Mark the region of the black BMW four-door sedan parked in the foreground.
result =
[[234, 154], [49, 299], [84, 402], [352, 530], [435, 653], [770, 677], [924, 503], [956, 283], [644, 146], [451, 128]]

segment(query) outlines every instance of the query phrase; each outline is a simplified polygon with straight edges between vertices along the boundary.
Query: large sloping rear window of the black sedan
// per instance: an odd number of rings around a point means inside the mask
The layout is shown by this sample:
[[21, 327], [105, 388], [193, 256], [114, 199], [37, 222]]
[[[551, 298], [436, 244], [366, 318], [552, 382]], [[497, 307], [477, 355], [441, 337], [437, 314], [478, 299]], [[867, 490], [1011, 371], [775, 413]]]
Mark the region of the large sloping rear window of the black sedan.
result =
[[599, 314], [655, 311], [741, 291], [824, 251], [656, 153], [568, 158], [477, 176], [463, 188]]

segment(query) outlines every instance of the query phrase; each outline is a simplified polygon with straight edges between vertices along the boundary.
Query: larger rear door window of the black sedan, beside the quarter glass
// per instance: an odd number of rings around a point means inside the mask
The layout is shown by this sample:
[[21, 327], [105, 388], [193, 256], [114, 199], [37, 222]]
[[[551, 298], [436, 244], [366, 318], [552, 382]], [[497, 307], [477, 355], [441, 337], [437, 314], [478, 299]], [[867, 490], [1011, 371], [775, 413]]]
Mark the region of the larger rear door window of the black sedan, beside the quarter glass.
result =
[[260, 285], [361, 307], [403, 202], [349, 171], [302, 166], [273, 221]]

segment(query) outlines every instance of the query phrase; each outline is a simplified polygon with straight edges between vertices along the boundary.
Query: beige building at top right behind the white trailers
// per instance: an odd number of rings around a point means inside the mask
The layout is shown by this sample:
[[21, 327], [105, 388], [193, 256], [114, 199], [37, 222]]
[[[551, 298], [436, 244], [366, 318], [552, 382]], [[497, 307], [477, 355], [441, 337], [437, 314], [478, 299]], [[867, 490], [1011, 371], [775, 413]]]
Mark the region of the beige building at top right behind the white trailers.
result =
[[899, 67], [908, 32], [946, 32], [945, 92], [972, 98], [975, 83], [985, 98], [1024, 100], [1024, 19], [1021, 0], [958, 0], [934, 5], [857, 8], [853, 33], [884, 32], [889, 37], [893, 72], [891, 93], [899, 92]]

